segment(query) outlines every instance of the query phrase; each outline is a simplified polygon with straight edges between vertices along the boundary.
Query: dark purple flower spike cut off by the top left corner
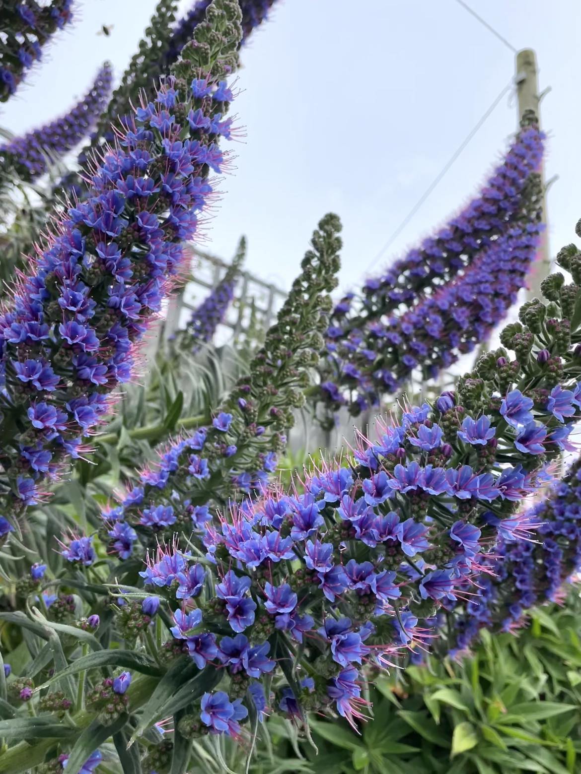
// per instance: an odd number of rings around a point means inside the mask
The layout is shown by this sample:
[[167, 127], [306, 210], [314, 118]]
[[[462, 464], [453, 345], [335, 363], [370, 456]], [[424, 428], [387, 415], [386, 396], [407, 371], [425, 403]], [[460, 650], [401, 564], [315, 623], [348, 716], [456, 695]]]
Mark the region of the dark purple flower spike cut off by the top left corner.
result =
[[40, 60], [43, 46], [72, 19], [73, 0], [0, 2], [0, 102], [16, 91], [26, 71]]

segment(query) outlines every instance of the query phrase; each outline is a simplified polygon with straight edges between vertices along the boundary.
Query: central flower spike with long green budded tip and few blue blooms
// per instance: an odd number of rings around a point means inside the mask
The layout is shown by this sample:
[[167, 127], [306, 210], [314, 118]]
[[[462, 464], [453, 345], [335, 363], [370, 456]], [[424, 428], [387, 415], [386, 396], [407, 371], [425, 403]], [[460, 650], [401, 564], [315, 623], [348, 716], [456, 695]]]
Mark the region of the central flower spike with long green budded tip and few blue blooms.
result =
[[339, 271], [340, 229], [336, 215], [319, 222], [276, 323], [211, 426], [170, 444], [119, 505], [105, 509], [102, 537], [110, 553], [127, 560], [160, 540], [171, 542], [177, 531], [187, 539], [217, 508], [266, 488], [294, 423], [292, 409], [303, 405], [308, 371], [318, 361]]

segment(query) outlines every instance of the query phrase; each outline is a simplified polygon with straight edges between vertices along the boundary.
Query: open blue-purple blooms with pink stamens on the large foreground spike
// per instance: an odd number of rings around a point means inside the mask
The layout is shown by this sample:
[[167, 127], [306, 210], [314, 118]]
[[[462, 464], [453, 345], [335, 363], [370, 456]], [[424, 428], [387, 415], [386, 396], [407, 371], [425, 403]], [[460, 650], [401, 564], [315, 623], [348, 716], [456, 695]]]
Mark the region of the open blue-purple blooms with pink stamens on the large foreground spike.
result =
[[[230, 503], [217, 519], [198, 505], [192, 485], [210, 476], [199, 433], [187, 442], [181, 476], [170, 471], [180, 464], [174, 456], [149, 482], [153, 488], [171, 476], [173, 504], [152, 507], [138, 488], [125, 511], [108, 513], [121, 519], [119, 533], [131, 529], [127, 515], [135, 507], [140, 526], [160, 533], [168, 526], [183, 533], [180, 524], [191, 520], [191, 538], [160, 542], [139, 573], [146, 591], [170, 605], [168, 652], [187, 652], [198, 670], [215, 671], [217, 690], [201, 697], [198, 717], [180, 721], [182, 735], [237, 738], [248, 712], [268, 706], [304, 719], [308, 709], [332, 705], [354, 722], [363, 665], [384, 667], [403, 649], [427, 647], [432, 616], [466, 598], [486, 546], [503, 532], [518, 533], [515, 506], [545, 485], [545, 465], [518, 451], [514, 464], [500, 464], [494, 452], [517, 450], [530, 423], [551, 426], [555, 406], [538, 411], [509, 390], [483, 418], [466, 413], [454, 448], [446, 441], [457, 432], [450, 413], [463, 412], [449, 396], [441, 401], [408, 409], [401, 423], [382, 427], [376, 443], [362, 440], [350, 464], [325, 466], [302, 481], [300, 494], [271, 489]], [[225, 443], [231, 421], [215, 419]]]

